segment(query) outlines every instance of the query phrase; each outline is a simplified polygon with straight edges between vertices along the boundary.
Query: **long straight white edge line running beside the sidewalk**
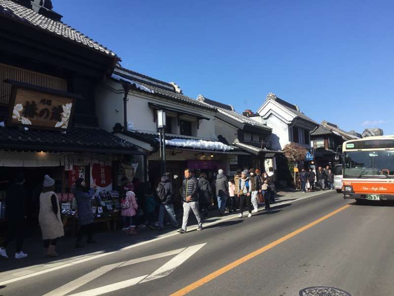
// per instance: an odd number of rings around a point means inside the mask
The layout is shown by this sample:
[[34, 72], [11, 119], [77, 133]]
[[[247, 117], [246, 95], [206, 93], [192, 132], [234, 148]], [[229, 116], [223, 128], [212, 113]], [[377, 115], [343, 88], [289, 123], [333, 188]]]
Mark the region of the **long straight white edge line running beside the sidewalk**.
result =
[[[278, 207], [280, 205], [293, 203], [293, 202], [296, 202], [296, 201], [299, 201], [299, 200], [302, 200], [302, 199], [305, 199], [305, 198], [314, 197], [314, 196], [321, 195], [321, 194], [328, 193], [328, 192], [335, 192], [335, 191], [328, 190], [328, 191], [318, 192], [316, 194], [307, 195], [305, 197], [301, 197], [301, 198], [298, 198], [298, 199], [295, 199], [295, 200], [289, 200], [289, 201], [281, 202], [281, 203], [278, 203], [278, 204], [273, 204], [271, 206], [271, 208], [275, 208], [275, 207]], [[263, 211], [263, 209], [261, 209], [259, 211]], [[211, 226], [211, 225], [215, 225], [215, 224], [218, 224], [218, 223], [221, 223], [221, 222], [224, 222], [224, 221], [232, 220], [232, 219], [236, 218], [237, 216], [238, 216], [237, 214], [230, 215], [230, 216], [228, 216], [228, 217], [226, 217], [224, 219], [220, 219], [220, 220], [217, 220], [217, 221], [214, 221], [214, 222], [210, 222], [210, 223], [204, 223], [204, 226], [205, 227], [206, 226]], [[188, 227], [188, 229], [189, 229], [188, 230], [188, 232], [189, 232], [191, 230], [197, 229], [197, 226], [191, 226], [191, 227]], [[136, 247], [139, 247], [139, 246], [143, 246], [143, 245], [146, 245], [146, 244], [157, 242], [159, 240], [162, 240], [162, 239], [174, 236], [174, 235], [178, 235], [178, 234], [180, 234], [180, 233], [174, 231], [172, 233], [165, 234], [163, 236], [159, 236], [157, 238], [154, 238], [154, 239], [151, 239], [151, 240], [148, 240], [148, 241], [144, 241], [144, 242], [140, 242], [140, 243], [137, 243], [137, 244], [134, 244], [134, 245], [131, 245], [131, 246], [127, 246], [127, 247], [121, 248], [121, 249], [116, 250], [116, 251], [98, 254], [98, 255], [95, 255], [95, 256], [88, 257], [88, 258], [79, 259], [77, 261], [68, 262], [68, 263], [65, 263], [65, 264], [60, 265], [60, 266], [55, 266], [55, 267], [52, 267], [52, 268], [49, 268], [49, 269], [45, 269], [45, 270], [42, 270], [42, 271], [37, 271], [37, 272], [32, 273], [32, 274], [28, 274], [28, 275], [16, 277], [16, 278], [13, 278], [13, 279], [9, 279], [9, 280], [0, 282], [0, 286], [8, 285], [10, 283], [14, 283], [14, 282], [17, 282], [17, 281], [20, 281], [20, 280], [31, 278], [33, 276], [45, 274], [45, 273], [52, 272], [52, 271], [55, 271], [55, 270], [59, 270], [59, 269], [65, 268], [65, 267], [69, 267], [69, 266], [75, 265], [75, 264], [79, 264], [79, 263], [87, 262], [87, 261], [90, 261], [90, 260], [93, 260], [93, 259], [98, 259], [98, 258], [101, 258], [101, 257], [104, 257], [104, 256], [112, 255], [112, 254], [115, 254], [115, 253], [118, 253], [118, 252], [122, 252], [122, 251], [125, 251], [125, 250], [130, 250], [132, 248], [136, 248]], [[92, 254], [97, 254], [97, 252], [94, 252]], [[88, 255], [91, 255], [91, 254], [86, 254], [86, 255], [88, 256]], [[69, 260], [72, 260], [72, 259], [73, 258], [70, 258]]]

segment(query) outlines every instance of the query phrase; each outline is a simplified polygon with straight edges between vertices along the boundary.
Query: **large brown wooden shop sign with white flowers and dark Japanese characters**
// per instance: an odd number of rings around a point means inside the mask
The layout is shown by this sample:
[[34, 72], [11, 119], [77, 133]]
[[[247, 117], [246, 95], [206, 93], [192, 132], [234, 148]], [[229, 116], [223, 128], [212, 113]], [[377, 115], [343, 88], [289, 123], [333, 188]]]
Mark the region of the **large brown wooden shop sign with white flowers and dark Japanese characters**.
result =
[[73, 111], [72, 97], [13, 85], [7, 125], [67, 129]]

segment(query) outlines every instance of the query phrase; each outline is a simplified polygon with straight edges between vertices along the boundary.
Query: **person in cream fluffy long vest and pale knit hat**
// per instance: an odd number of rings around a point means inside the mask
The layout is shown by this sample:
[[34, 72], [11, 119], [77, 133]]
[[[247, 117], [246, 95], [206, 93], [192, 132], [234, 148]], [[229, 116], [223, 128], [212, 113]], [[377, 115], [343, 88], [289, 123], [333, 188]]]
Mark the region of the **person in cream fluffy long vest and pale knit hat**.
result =
[[55, 180], [44, 176], [42, 192], [40, 194], [40, 224], [44, 243], [44, 256], [58, 257], [55, 250], [58, 239], [65, 235], [63, 222], [60, 217], [59, 199], [55, 191]]

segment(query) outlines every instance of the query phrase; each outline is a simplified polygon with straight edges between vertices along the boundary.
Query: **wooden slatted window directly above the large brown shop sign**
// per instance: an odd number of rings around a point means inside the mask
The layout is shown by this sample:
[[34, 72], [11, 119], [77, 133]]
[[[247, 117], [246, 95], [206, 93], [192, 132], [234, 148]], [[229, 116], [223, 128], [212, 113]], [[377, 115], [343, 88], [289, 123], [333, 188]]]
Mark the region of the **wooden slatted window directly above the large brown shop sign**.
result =
[[66, 79], [0, 63], [0, 104], [8, 104], [11, 94], [12, 85], [4, 82], [5, 79], [12, 79], [54, 90], [67, 91]]

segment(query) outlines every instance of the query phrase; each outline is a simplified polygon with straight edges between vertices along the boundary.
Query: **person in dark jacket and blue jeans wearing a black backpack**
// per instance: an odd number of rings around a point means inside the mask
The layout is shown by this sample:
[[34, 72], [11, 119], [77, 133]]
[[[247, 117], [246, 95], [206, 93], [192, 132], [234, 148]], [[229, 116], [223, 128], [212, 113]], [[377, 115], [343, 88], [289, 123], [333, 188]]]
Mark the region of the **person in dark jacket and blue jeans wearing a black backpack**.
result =
[[161, 181], [157, 185], [156, 193], [160, 200], [159, 230], [164, 229], [165, 214], [168, 215], [173, 227], [179, 227], [174, 211], [174, 189], [169, 173], [163, 174]]

